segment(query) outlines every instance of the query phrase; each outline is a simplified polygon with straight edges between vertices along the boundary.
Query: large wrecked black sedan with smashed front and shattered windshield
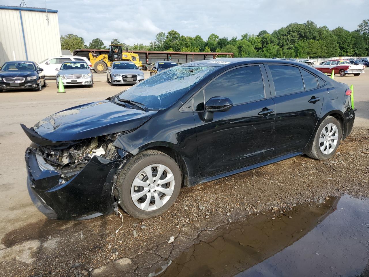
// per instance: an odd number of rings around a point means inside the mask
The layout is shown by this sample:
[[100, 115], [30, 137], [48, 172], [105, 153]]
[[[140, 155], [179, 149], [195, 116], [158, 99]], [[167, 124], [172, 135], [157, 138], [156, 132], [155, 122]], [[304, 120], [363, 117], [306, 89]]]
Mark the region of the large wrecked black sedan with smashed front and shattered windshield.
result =
[[181, 186], [297, 155], [331, 158], [351, 90], [301, 62], [232, 58], [160, 72], [106, 100], [22, 125], [28, 191], [49, 218], [165, 212]]

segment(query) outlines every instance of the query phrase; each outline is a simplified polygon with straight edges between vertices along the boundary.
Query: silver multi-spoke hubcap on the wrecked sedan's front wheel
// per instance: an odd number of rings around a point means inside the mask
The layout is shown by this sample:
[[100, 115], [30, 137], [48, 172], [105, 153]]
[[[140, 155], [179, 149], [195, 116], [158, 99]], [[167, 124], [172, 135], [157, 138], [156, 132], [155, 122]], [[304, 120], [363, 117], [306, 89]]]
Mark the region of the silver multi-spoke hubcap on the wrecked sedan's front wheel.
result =
[[168, 202], [174, 185], [174, 176], [168, 167], [163, 164], [149, 165], [132, 182], [132, 201], [143, 211], [154, 211]]

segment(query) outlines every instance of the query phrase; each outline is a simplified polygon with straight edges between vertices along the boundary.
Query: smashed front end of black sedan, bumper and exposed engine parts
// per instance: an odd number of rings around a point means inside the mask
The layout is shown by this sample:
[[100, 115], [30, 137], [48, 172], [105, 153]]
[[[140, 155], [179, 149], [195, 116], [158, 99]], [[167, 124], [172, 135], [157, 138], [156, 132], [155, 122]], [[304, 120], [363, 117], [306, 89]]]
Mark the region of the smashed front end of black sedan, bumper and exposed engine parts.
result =
[[[113, 146], [118, 134], [79, 141], [50, 141], [22, 125], [27, 148], [27, 187], [50, 219], [89, 219], [117, 209], [117, 173], [131, 154]], [[118, 196], [119, 199], [119, 196]]]

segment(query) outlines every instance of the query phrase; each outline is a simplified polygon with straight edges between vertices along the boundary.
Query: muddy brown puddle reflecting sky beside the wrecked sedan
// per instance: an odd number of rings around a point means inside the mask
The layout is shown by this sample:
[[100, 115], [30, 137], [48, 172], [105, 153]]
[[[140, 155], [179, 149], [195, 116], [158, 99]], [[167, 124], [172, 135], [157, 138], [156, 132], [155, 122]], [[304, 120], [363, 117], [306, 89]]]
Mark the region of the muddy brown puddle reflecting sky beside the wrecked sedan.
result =
[[[283, 211], [282, 211], [283, 212]], [[199, 235], [149, 276], [369, 276], [369, 199], [345, 195]]]

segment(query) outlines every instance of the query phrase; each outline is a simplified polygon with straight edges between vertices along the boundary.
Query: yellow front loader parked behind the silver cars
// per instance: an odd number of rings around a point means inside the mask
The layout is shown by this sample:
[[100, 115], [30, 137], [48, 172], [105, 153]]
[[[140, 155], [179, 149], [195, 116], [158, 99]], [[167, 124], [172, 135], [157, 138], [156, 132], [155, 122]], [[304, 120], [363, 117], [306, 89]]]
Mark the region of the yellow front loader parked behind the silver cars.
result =
[[128, 49], [123, 52], [122, 45], [112, 44], [109, 46], [109, 54], [96, 56], [90, 52], [90, 62], [96, 73], [105, 73], [106, 68], [110, 67], [113, 61], [131, 61], [138, 68], [142, 67], [142, 62], [139, 60], [138, 55], [127, 51]]

